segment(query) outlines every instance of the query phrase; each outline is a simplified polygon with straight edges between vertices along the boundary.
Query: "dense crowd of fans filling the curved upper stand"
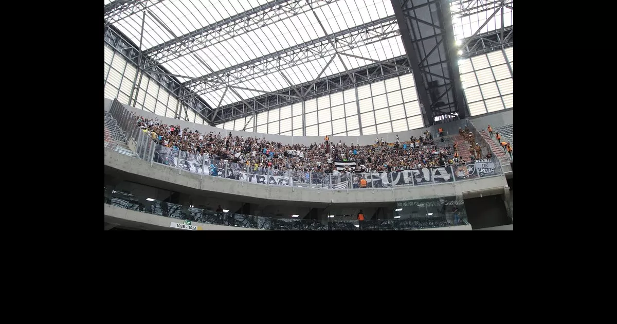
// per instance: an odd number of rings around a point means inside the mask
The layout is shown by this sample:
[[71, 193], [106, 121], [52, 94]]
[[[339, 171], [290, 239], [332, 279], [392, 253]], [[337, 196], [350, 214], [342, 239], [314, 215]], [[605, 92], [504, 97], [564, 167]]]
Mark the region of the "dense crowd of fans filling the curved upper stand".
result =
[[[422, 136], [412, 136], [401, 142], [396, 136], [394, 143], [376, 139], [375, 145], [359, 146], [339, 141], [333, 143], [328, 136], [322, 143], [310, 146], [303, 144], [283, 144], [267, 141], [264, 138], [200, 133], [180, 125], [167, 125], [158, 118], [155, 120], [136, 117], [136, 122], [144, 132], [158, 144], [175, 150], [198, 154], [204, 159], [222, 159], [228, 162], [246, 164], [253, 170], [312, 170], [338, 172], [334, 162], [355, 162], [355, 170], [360, 172], [392, 172], [412, 168], [457, 165], [466, 162], [458, 154], [457, 144], [436, 144], [433, 135], [426, 131]], [[473, 134], [465, 127], [459, 130], [470, 142], [471, 160], [482, 156], [478, 143], [473, 146]], [[439, 143], [439, 141], [437, 141]], [[490, 153], [487, 157], [491, 157]], [[353, 164], [352, 164], [353, 167]], [[349, 172], [350, 167], [340, 170]]]

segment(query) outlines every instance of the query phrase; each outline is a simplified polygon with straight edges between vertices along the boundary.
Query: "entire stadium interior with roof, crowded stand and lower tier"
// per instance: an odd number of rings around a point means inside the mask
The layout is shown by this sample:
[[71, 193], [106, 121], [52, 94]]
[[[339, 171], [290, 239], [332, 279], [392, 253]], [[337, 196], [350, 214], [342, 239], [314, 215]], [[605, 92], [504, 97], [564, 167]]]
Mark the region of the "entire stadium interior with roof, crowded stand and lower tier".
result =
[[105, 230], [513, 230], [513, 0], [105, 1]]

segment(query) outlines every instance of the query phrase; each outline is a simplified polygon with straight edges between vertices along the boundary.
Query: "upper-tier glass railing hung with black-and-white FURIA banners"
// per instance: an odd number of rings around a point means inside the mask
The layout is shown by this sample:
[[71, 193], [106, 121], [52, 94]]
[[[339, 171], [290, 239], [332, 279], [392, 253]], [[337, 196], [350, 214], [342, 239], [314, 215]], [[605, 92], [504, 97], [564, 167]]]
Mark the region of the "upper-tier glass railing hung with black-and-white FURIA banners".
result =
[[[405, 170], [394, 167], [392, 172], [350, 171], [334, 173], [326, 173], [323, 170], [313, 170], [312, 168], [278, 169], [266, 167], [263, 164], [246, 164], [246, 160], [240, 163], [229, 162], [222, 157], [192, 154], [157, 143], [154, 141], [155, 135], [151, 131], [138, 127], [135, 114], [123, 107], [117, 100], [112, 102], [110, 113], [114, 116], [118, 125], [126, 130], [129, 141], [135, 141], [136, 154], [141, 159], [200, 175], [248, 181], [268, 186], [363, 189], [360, 188], [360, 183], [365, 180], [367, 189], [387, 189], [399, 186], [439, 185], [502, 173], [497, 158]], [[484, 147], [489, 147], [486, 145], [486, 141], [479, 136], [477, 130], [473, 127], [472, 129], [476, 132], [476, 138], [482, 141]]]

